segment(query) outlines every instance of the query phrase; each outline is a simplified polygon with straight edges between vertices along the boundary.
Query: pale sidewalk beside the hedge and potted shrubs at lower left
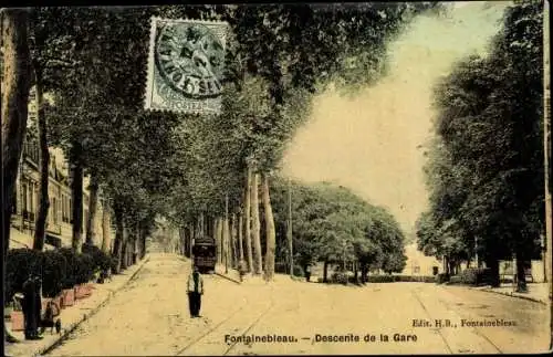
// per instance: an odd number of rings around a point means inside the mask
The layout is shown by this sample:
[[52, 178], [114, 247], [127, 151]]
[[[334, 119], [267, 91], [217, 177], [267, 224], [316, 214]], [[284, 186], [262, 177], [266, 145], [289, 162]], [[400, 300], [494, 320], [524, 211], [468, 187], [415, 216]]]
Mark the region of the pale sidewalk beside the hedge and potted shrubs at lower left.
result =
[[[69, 336], [83, 321], [93, 316], [100, 308], [115, 295], [117, 291], [124, 287], [144, 264], [149, 260], [146, 255], [142, 261], [133, 266], [127, 267], [118, 275], [113, 275], [112, 281], [104, 284], [94, 284], [93, 293], [90, 297], [77, 300], [73, 306], [62, 309], [59, 316], [62, 322], [62, 333], [60, 335], [50, 333], [46, 328], [42, 335], [44, 338], [40, 340], [25, 340], [23, 332], [12, 332], [20, 343], [4, 344], [6, 356], [39, 356], [48, 353], [53, 347], [58, 346], [65, 337]], [[7, 323], [8, 326], [11, 323]]]

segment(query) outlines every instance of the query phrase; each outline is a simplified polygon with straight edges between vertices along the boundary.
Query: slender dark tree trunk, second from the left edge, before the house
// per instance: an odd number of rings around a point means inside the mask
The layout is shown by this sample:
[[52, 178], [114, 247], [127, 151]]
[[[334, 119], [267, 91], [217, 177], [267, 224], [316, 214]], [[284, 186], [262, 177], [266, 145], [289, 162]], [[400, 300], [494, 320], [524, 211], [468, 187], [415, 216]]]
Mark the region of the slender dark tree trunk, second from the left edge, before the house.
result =
[[44, 113], [44, 97], [42, 94], [42, 69], [38, 61], [33, 61], [34, 66], [34, 88], [35, 88], [35, 101], [38, 109], [39, 119], [39, 167], [40, 167], [40, 186], [39, 186], [39, 213], [36, 214], [36, 220], [34, 222], [34, 239], [33, 249], [42, 251], [44, 249], [44, 239], [46, 235], [46, 221], [48, 221], [48, 209], [50, 208], [48, 185], [50, 177], [50, 153], [48, 150], [48, 138], [46, 138], [46, 115]]

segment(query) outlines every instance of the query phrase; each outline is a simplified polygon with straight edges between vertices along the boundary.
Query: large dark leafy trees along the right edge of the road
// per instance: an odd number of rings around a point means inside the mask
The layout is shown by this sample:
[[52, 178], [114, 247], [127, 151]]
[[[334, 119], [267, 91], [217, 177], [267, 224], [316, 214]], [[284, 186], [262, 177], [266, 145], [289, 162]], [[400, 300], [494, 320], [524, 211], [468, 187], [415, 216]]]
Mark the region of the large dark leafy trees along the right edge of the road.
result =
[[499, 285], [499, 260], [540, 256], [544, 234], [541, 1], [508, 8], [489, 54], [470, 56], [436, 87], [437, 137], [428, 151], [430, 210], [418, 243], [449, 272], [478, 254]]

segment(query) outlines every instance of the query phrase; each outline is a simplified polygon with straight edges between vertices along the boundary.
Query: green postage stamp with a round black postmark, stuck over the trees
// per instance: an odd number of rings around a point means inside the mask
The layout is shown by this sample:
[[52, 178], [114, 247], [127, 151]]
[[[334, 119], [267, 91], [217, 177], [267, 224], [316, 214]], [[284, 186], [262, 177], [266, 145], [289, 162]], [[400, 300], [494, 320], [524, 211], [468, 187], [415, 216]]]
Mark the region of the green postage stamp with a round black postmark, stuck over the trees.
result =
[[145, 108], [219, 114], [226, 22], [152, 19]]

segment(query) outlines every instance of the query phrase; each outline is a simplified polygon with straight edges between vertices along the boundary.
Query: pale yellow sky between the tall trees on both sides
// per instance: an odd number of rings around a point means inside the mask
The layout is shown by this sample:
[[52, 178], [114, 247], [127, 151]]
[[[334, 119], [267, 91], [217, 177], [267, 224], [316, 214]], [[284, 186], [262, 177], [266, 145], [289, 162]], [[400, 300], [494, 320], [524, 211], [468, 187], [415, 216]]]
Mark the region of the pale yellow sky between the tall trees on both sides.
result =
[[283, 175], [351, 188], [396, 217], [408, 235], [428, 207], [424, 145], [432, 137], [432, 86], [453, 63], [486, 55], [509, 2], [457, 2], [447, 17], [419, 17], [390, 43], [388, 75], [355, 97], [314, 98], [283, 161]]

